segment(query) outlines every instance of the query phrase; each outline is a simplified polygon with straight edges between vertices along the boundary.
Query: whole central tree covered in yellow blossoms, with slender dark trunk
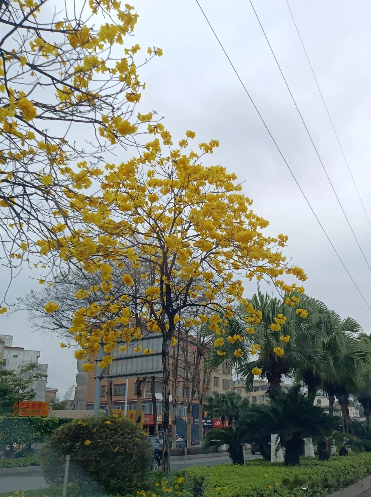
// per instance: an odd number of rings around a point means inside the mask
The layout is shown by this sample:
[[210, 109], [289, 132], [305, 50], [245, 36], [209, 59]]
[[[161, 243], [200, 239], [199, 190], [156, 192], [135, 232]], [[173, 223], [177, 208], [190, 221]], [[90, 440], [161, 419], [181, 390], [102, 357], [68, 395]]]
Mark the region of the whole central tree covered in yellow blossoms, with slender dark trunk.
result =
[[[223, 166], [202, 165], [217, 141], [200, 143], [196, 152], [190, 145], [192, 131], [174, 147], [162, 124], [148, 129], [153, 139], [138, 157], [105, 166], [101, 196], [71, 196], [74, 234], [61, 236], [58, 243], [44, 238], [37, 245], [46, 258], [59, 254], [90, 273], [100, 271], [106, 301], [94, 309], [81, 307], [70, 330], [81, 346], [81, 357], [95, 353], [102, 340], [106, 355], [101, 365], [106, 367], [119, 340], [140, 339], [144, 329], [161, 333], [163, 468], [168, 472], [169, 347], [176, 324], [181, 321], [187, 330], [208, 322], [222, 337], [236, 304], [243, 310], [248, 306], [242, 277], [265, 278], [286, 290], [278, 277], [287, 273], [304, 280], [305, 274], [281, 253], [287, 237], [264, 236], [268, 221], [252, 211], [252, 201], [241, 192], [235, 174]], [[125, 264], [142, 271], [148, 281], [143, 292], [133, 290]], [[113, 267], [123, 269], [119, 296], [112, 292]], [[189, 318], [190, 309], [197, 317]], [[86, 321], [91, 314], [101, 323], [98, 329]], [[131, 319], [136, 326], [129, 328]], [[242, 319], [249, 328], [260, 321], [254, 310]]]

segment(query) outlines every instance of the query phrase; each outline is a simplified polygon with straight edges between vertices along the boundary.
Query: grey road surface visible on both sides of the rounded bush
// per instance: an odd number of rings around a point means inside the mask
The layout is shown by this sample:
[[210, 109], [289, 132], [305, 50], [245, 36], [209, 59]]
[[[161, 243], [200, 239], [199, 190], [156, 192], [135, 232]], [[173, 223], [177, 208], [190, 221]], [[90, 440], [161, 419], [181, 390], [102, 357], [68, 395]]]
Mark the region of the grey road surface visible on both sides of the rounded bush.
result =
[[[250, 453], [248, 453], [246, 454], [246, 461], [250, 459], [255, 459], [256, 457], [260, 457], [260, 455], [252, 456]], [[229, 464], [229, 463], [230, 459], [227, 455], [225, 457], [211, 456], [211, 457], [200, 457], [197, 459], [188, 458], [187, 468], [189, 466], [215, 466], [217, 464]], [[184, 469], [184, 459], [180, 459], [177, 461], [170, 459], [170, 469], [173, 470]], [[45, 489], [46, 487], [49, 487], [49, 485], [44, 480], [41, 470], [36, 473], [18, 473], [18, 474], [0, 476], [0, 492]]]

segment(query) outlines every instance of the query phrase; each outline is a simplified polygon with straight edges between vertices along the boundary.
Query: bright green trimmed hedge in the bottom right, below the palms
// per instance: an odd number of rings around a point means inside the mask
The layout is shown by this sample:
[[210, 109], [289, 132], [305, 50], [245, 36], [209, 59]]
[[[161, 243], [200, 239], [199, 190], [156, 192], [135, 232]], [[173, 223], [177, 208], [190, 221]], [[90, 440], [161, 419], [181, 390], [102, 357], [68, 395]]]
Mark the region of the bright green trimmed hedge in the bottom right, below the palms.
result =
[[[329, 461], [303, 458], [286, 467], [256, 459], [243, 466], [187, 468], [187, 490], [195, 497], [322, 497], [371, 475], [371, 453], [332, 456]], [[304, 482], [306, 482], [304, 484]], [[309, 485], [301, 490], [301, 485]]]

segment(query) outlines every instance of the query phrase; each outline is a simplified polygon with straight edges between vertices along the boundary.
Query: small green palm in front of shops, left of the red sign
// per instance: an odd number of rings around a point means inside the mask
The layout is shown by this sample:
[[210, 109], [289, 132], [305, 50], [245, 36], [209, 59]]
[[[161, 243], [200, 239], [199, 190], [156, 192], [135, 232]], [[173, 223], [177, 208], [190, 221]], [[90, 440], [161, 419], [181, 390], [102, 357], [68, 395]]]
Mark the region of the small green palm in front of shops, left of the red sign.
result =
[[236, 392], [229, 391], [225, 394], [213, 392], [205, 401], [208, 406], [208, 417], [221, 418], [223, 425], [225, 419], [228, 420], [230, 426], [234, 420], [237, 420], [240, 414], [249, 407], [247, 397], [241, 397]]

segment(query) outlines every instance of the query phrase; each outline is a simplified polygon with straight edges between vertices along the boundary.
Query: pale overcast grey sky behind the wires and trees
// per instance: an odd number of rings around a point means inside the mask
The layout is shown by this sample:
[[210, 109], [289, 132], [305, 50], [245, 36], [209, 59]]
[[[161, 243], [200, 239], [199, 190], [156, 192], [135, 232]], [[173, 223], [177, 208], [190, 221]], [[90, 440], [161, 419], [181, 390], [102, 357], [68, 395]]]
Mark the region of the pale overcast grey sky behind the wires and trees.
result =
[[[366, 257], [371, 228], [336, 142], [286, 0], [254, 6], [297, 100], [313, 141]], [[330, 184], [282, 80], [248, 1], [200, 0], [211, 24], [251, 93], [313, 209], [371, 305], [370, 270], [346, 223]], [[236, 172], [253, 208], [270, 221], [267, 231], [289, 236], [286, 254], [305, 270], [308, 295], [370, 331], [371, 311], [357, 293], [309, 210], [256, 111], [229, 66], [195, 0], [139, 0], [134, 43], [163, 49], [141, 69], [147, 88], [141, 111], [157, 110], [176, 140], [186, 130], [196, 139], [219, 139], [211, 159]], [[370, 158], [371, 4], [365, 0], [290, 0], [298, 29], [338, 132], [360, 194], [371, 216]], [[122, 160], [122, 159], [121, 159]], [[2, 271], [3, 274], [3, 271]], [[23, 270], [11, 296], [38, 289]], [[39, 287], [40, 288], [40, 287]], [[246, 295], [256, 289], [246, 286]], [[8, 300], [11, 300], [8, 299]], [[75, 381], [73, 352], [60, 339], [28, 330], [27, 315], [2, 318], [1, 332], [14, 345], [40, 349], [49, 363], [49, 386], [62, 394]]]

